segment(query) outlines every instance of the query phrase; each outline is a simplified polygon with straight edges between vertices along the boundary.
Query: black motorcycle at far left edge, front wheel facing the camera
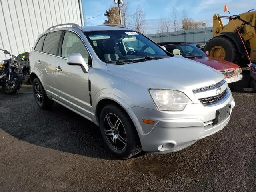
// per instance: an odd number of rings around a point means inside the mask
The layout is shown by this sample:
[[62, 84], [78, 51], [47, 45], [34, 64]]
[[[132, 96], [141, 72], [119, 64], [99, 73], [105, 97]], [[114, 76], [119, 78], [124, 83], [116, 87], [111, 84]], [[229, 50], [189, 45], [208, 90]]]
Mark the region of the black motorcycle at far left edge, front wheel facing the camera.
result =
[[24, 80], [22, 72], [24, 65], [20, 64], [22, 59], [11, 55], [7, 50], [0, 50], [10, 56], [9, 59], [0, 62], [0, 86], [2, 86], [4, 93], [15, 94]]

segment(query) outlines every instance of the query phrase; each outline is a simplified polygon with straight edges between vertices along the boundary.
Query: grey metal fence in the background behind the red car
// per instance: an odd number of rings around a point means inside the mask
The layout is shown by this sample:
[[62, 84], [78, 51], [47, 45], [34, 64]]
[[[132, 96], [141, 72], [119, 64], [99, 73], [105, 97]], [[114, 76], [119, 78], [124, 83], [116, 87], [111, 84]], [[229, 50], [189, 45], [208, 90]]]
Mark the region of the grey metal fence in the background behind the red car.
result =
[[146, 36], [157, 43], [188, 42], [192, 44], [199, 44], [199, 43], [206, 43], [209, 39], [212, 38], [212, 27], [207, 27], [206, 29], [200, 28], [200, 29], [192, 29], [187, 31], [148, 34]]

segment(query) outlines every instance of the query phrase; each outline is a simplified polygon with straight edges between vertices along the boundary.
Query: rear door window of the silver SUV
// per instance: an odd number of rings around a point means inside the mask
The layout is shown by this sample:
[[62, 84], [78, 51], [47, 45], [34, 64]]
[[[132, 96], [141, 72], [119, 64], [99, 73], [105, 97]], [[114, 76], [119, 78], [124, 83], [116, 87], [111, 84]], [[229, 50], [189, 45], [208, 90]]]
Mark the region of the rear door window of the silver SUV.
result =
[[46, 35], [44, 40], [43, 52], [53, 55], [58, 53], [58, 43], [62, 32], [52, 32]]

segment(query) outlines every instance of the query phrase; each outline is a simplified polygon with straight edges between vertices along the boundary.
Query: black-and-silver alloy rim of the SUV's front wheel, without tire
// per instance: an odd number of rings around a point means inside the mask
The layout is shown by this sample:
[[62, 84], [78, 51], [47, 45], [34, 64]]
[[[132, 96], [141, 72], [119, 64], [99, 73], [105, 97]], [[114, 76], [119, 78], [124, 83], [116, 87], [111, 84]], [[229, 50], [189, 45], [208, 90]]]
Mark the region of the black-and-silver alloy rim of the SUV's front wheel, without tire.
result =
[[118, 116], [112, 113], [105, 116], [104, 131], [108, 142], [115, 150], [123, 150], [126, 147], [126, 132]]

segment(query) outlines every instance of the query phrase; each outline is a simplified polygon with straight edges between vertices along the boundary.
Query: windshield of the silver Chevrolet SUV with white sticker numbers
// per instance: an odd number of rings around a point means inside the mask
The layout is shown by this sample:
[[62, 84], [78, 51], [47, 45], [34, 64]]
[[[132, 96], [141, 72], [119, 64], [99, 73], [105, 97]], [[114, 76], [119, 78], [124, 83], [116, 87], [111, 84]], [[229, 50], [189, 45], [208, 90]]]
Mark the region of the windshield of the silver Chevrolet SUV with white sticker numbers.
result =
[[154, 42], [130, 30], [84, 32], [98, 57], [112, 64], [143, 62], [169, 57]]

